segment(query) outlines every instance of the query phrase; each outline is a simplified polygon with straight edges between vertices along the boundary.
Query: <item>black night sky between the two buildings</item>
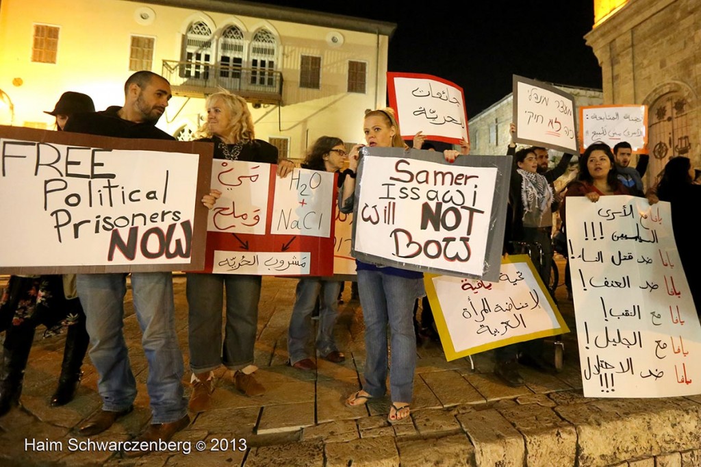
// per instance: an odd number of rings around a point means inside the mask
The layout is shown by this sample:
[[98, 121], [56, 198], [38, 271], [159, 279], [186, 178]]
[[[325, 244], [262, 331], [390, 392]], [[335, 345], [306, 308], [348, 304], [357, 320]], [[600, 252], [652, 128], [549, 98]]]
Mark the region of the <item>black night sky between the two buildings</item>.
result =
[[[389, 71], [440, 76], [462, 86], [468, 117], [511, 92], [512, 74], [601, 88], [601, 68], [584, 34], [593, 0], [408, 2], [264, 0], [261, 3], [394, 22]], [[401, 6], [396, 6], [401, 4]]]

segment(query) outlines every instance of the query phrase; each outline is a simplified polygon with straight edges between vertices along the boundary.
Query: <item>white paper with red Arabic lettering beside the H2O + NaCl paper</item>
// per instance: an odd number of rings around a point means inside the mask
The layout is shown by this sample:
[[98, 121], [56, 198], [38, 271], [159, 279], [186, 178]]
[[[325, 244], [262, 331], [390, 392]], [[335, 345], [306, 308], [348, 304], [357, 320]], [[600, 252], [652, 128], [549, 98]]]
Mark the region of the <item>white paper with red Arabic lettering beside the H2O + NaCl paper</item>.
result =
[[207, 231], [264, 235], [268, 219], [270, 165], [215, 159], [213, 189], [222, 192], [207, 218]]

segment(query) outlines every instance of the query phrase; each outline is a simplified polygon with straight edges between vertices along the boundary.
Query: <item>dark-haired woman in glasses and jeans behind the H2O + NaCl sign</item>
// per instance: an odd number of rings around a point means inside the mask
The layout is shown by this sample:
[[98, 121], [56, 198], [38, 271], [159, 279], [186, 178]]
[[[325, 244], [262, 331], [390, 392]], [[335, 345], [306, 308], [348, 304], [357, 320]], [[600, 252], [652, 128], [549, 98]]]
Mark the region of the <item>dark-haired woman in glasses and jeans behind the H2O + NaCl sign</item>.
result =
[[[309, 150], [302, 168], [338, 172], [348, 156], [343, 141], [336, 137], [322, 136], [314, 142]], [[346, 173], [355, 175], [350, 169]], [[290, 317], [290, 329], [287, 332], [287, 353], [290, 365], [306, 371], [316, 370], [316, 363], [307, 352], [311, 334], [311, 314], [318, 299], [319, 329], [316, 335], [316, 349], [322, 358], [332, 363], [341, 363], [346, 356], [336, 347], [334, 325], [339, 316], [338, 297], [341, 281], [318, 277], [305, 277], [297, 283], [297, 297]]]

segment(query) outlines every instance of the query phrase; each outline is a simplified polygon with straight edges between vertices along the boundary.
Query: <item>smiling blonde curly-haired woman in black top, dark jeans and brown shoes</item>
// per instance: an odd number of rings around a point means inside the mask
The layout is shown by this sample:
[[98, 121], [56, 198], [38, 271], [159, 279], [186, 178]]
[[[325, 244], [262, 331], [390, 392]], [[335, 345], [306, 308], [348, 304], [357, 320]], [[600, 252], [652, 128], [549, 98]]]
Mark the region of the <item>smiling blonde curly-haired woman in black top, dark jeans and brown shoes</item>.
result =
[[[278, 163], [278, 149], [256, 140], [248, 104], [222, 91], [207, 97], [207, 121], [198, 132], [200, 142], [214, 143], [215, 159]], [[278, 176], [292, 172], [292, 161], [279, 161]], [[226, 289], [226, 327], [222, 345], [222, 307]], [[233, 384], [248, 396], [265, 388], [254, 377], [253, 351], [258, 323], [261, 276], [244, 274], [187, 274], [189, 348], [193, 391], [189, 407], [203, 412], [211, 405], [214, 371], [220, 365], [233, 370]]]

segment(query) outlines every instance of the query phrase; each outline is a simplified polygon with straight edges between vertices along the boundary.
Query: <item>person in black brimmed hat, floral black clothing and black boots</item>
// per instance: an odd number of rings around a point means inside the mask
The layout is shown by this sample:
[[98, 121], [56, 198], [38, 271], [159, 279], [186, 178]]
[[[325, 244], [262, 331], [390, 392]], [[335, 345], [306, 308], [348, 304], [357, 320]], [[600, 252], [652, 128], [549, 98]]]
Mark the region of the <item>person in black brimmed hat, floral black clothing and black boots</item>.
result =
[[[46, 114], [56, 117], [56, 128], [62, 131], [73, 114], [94, 111], [90, 96], [68, 92]], [[90, 338], [76, 294], [75, 275], [11, 276], [0, 297], [0, 331], [7, 331], [0, 356], [0, 417], [19, 404], [34, 330], [40, 324], [46, 326], [44, 337], [68, 328], [61, 376], [51, 405], [67, 404], [78, 389]]]

